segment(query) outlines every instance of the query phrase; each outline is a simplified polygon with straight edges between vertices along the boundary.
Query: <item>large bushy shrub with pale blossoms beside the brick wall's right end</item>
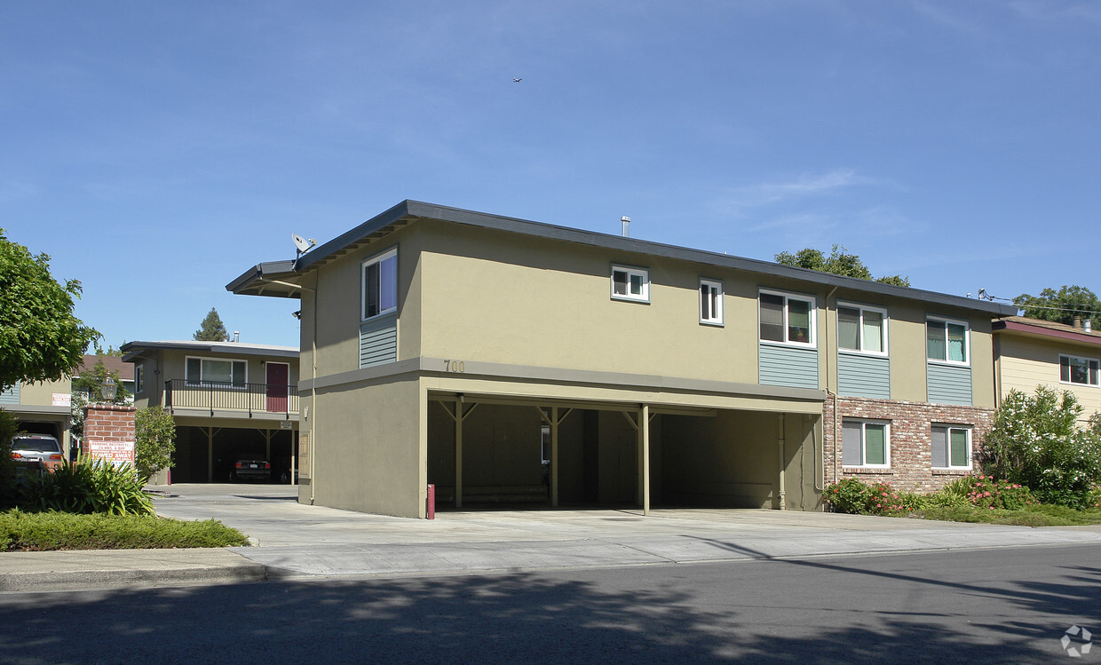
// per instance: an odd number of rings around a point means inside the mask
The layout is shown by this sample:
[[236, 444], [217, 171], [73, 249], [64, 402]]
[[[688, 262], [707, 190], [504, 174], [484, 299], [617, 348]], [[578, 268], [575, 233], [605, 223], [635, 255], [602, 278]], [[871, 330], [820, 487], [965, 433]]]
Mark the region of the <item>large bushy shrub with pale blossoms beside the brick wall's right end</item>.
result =
[[983, 470], [1027, 487], [1044, 503], [1086, 508], [1101, 482], [1101, 424], [1082, 427], [1081, 414], [1070, 391], [1037, 385], [1036, 394], [1027, 395], [1011, 390], [983, 438]]

